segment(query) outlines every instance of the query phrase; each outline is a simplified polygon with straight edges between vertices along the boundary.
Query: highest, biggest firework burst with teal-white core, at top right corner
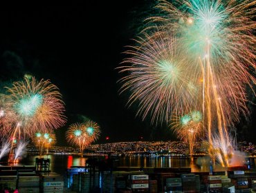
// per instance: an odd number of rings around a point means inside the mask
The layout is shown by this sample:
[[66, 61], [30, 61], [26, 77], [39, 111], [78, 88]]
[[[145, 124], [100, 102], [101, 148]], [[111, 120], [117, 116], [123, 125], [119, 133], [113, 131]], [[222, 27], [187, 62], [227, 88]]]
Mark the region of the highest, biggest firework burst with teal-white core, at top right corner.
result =
[[[165, 31], [176, 37], [177, 47], [193, 61], [188, 65], [201, 71], [205, 87], [212, 87], [209, 97], [221, 99], [219, 105], [225, 106], [222, 114], [229, 125], [239, 121], [240, 112], [248, 113], [246, 85], [252, 88], [256, 82], [255, 4], [253, 0], [159, 1], [156, 8], [161, 15], [149, 18], [151, 27], [145, 28], [145, 32], [151, 30], [152, 38]], [[208, 103], [216, 106], [218, 102]]]

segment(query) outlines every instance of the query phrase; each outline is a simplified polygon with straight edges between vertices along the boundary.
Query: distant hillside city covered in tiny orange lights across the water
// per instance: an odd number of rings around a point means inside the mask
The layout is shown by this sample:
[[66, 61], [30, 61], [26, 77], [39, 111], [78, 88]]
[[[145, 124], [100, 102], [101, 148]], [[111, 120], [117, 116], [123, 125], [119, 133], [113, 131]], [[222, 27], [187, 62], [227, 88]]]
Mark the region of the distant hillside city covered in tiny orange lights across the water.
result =
[[[28, 152], [38, 152], [38, 148], [34, 145], [28, 146]], [[256, 154], [256, 146], [254, 143], [240, 141], [237, 143], [237, 150], [246, 152], [248, 155]], [[49, 150], [49, 154], [53, 153], [77, 153], [80, 154], [80, 148], [74, 146], [53, 146]], [[143, 153], [161, 153], [161, 154], [189, 154], [189, 144], [183, 141], [131, 141], [131, 142], [116, 142], [102, 143], [89, 145], [85, 150], [85, 154], [143, 154]], [[194, 154], [207, 154], [207, 147], [201, 142], [194, 144]]]

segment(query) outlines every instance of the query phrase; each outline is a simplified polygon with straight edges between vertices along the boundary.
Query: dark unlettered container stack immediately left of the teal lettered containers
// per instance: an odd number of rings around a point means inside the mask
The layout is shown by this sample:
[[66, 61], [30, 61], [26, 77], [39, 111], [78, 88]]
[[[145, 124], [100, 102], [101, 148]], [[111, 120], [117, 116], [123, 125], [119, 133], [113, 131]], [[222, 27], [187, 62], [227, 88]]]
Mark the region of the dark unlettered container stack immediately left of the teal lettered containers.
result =
[[20, 193], [39, 193], [39, 176], [19, 176], [18, 189]]

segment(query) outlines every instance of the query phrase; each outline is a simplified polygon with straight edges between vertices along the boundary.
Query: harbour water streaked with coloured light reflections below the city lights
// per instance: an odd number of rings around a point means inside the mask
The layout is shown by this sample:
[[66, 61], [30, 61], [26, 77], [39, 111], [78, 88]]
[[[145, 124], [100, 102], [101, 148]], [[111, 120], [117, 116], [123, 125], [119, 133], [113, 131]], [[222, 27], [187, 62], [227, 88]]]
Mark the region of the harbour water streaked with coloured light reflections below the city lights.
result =
[[[21, 165], [35, 165], [35, 159], [39, 156], [28, 155], [21, 160]], [[71, 166], [85, 166], [89, 157], [77, 155], [44, 155], [44, 158], [51, 160], [51, 172], [64, 174], [66, 168]], [[102, 159], [104, 159], [102, 157]], [[192, 172], [208, 172], [210, 170], [210, 158], [202, 156], [190, 159], [179, 159], [168, 156], [164, 157], [144, 157], [144, 156], [125, 156], [113, 157], [113, 165], [116, 167], [191, 167]], [[255, 159], [251, 160], [255, 167]], [[214, 171], [224, 170], [220, 165], [214, 165]]]

